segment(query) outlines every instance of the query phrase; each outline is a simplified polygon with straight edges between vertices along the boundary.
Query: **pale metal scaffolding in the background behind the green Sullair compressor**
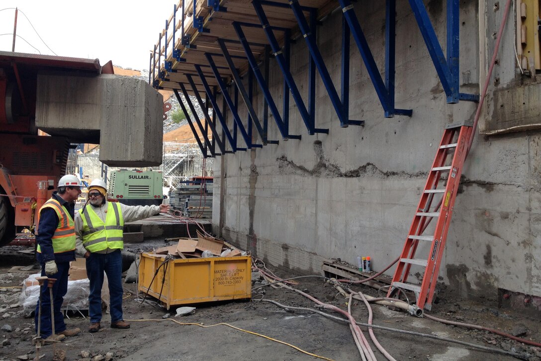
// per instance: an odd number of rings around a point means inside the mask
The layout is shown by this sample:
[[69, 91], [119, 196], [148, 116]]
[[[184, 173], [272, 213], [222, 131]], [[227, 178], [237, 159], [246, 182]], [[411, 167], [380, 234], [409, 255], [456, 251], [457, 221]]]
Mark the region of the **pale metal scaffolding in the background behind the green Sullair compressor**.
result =
[[[204, 164], [204, 169], [203, 169]], [[180, 182], [191, 176], [212, 176], [214, 161], [203, 159], [196, 143], [163, 143], [163, 183], [165, 187], [176, 188]]]

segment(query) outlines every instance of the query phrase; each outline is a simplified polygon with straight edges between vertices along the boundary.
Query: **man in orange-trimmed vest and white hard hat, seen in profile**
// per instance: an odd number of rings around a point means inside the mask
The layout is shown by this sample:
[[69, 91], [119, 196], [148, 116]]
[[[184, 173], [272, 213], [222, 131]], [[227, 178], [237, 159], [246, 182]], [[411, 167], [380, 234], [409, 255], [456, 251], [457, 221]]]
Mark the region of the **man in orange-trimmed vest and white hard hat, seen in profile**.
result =
[[[47, 283], [41, 288], [41, 325], [39, 333], [45, 342], [60, 341], [75, 336], [81, 330], [66, 329], [61, 306], [68, 292], [69, 262], [75, 260], [74, 201], [81, 194], [81, 184], [75, 175], [64, 175], [58, 189], [39, 208], [36, 258], [41, 264], [41, 275], [56, 279], [50, 299]], [[51, 302], [54, 307], [54, 331], [51, 323]], [[36, 334], [38, 332], [39, 304], [36, 305]]]

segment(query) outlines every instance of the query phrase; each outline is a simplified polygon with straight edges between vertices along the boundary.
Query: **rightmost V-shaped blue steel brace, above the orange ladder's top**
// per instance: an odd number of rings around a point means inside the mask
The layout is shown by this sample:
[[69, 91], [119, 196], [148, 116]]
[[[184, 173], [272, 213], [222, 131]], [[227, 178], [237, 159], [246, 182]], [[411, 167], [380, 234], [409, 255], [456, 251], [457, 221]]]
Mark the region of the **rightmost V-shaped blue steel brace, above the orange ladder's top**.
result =
[[459, 100], [479, 101], [477, 94], [459, 93], [459, 0], [447, 0], [447, 57], [441, 50], [423, 0], [409, 1], [428, 54], [447, 95], [447, 103], [458, 103]]

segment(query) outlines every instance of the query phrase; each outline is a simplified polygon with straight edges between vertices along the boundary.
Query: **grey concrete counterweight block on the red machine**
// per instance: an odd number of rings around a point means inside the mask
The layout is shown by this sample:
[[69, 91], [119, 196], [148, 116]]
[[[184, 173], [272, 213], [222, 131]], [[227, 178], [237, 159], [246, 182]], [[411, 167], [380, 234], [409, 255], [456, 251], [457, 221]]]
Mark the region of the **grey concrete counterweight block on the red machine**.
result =
[[36, 126], [72, 142], [100, 143], [109, 166], [162, 162], [163, 97], [134, 77], [39, 75]]

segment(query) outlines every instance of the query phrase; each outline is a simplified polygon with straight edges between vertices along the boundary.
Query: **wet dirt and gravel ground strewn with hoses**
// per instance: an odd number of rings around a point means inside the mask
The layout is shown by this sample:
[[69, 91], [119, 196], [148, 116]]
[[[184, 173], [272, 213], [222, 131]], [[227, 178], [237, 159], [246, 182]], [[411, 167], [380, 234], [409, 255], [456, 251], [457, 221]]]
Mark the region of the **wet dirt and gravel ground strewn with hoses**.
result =
[[[155, 240], [138, 244], [137, 247], [151, 249], [163, 245], [167, 245], [163, 240]], [[32, 263], [31, 255], [18, 252], [22, 249], [21, 247], [0, 249], [2, 261], [0, 287], [3, 287], [0, 288], [0, 317], [2, 318], [0, 320], [0, 359], [2, 360], [24, 360], [35, 356], [35, 346], [31, 340], [34, 335], [33, 318], [28, 318], [27, 312], [22, 310], [19, 300], [21, 288], [9, 288], [20, 287], [28, 275], [21, 272], [8, 272], [13, 265]], [[281, 270], [273, 271], [282, 278], [294, 276]], [[325, 303], [347, 310], [347, 299], [322, 278], [299, 279], [299, 284], [295, 288]], [[353, 289], [371, 296], [378, 294], [377, 290], [367, 286], [354, 286]], [[275, 300], [287, 306], [314, 308], [313, 301], [291, 290], [265, 287], [263, 288], [265, 293], [254, 296], [251, 301], [196, 304], [194, 305], [195, 313], [179, 317], [174, 317], [174, 308], [168, 311], [158, 305], [138, 303], [135, 284], [124, 284], [124, 290], [126, 292], [124, 319], [131, 320], [129, 330], [110, 329], [108, 327], [109, 314], [104, 314], [102, 330], [91, 334], [86, 332], [89, 325], [88, 318], [68, 313], [70, 317], [66, 319], [68, 327], [82, 329], [76, 337], [67, 338], [62, 344], [56, 346], [57, 349], [65, 351], [68, 360], [199, 360], [210, 357], [222, 360], [308, 360], [316, 359], [316, 356], [334, 360], [360, 359], [347, 324], [312, 312], [286, 312], [272, 303], [260, 301], [260, 299]], [[433, 306], [431, 312], [433, 316], [480, 324], [517, 334], [526, 339], [541, 340], [539, 319], [524, 317], [519, 311], [504, 312], [490, 300], [485, 300], [483, 304], [458, 300], [453, 297], [452, 292], [447, 290], [439, 296], [439, 303]], [[366, 322], [368, 311], [365, 305], [354, 300], [351, 306], [353, 317], [359, 322]], [[526, 346], [487, 331], [444, 325], [379, 305], [374, 305], [372, 309], [375, 325], [435, 334], [486, 347], [527, 354], [527, 358], [531, 360], [539, 360], [541, 356], [541, 350], [535, 347]], [[169, 314], [168, 317], [166, 317], [167, 314]], [[249, 333], [239, 329], [249, 331]], [[361, 330], [366, 331], [365, 327], [361, 327]], [[368, 332], [364, 333], [370, 340]], [[459, 344], [409, 334], [377, 329], [374, 333], [380, 344], [397, 360], [515, 359], [512, 356], [475, 350]], [[371, 341], [369, 343], [372, 345], [375, 357], [385, 359], [373, 343]], [[302, 353], [292, 346], [312, 355]], [[41, 353], [45, 354], [42, 360], [52, 359], [52, 346], [44, 346]]]

